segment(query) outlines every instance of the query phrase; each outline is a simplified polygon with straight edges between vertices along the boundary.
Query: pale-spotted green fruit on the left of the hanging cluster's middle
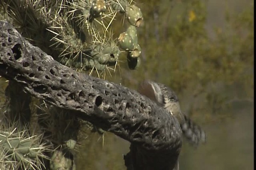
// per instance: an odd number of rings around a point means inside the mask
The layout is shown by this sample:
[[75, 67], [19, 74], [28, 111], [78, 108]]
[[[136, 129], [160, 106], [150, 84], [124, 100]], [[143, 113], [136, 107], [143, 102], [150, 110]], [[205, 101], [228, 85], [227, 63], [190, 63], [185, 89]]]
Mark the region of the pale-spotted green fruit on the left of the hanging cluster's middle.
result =
[[128, 33], [126, 33], [126, 32], [121, 33], [119, 35], [118, 43], [119, 43], [119, 47], [121, 49], [124, 49], [126, 51], [133, 50], [134, 43], [133, 43], [132, 37], [130, 35], [128, 35]]

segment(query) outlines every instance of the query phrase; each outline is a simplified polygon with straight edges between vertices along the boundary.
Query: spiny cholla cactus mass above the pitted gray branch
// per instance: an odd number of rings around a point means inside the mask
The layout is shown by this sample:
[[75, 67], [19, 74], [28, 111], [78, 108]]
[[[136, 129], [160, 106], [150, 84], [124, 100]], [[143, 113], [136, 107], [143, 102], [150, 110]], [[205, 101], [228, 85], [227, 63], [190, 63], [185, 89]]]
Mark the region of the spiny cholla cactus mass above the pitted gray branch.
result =
[[[142, 12], [131, 3], [127, 0], [2, 0], [0, 5], [4, 6], [7, 20], [55, 60], [77, 71], [104, 72], [116, 66], [121, 49], [128, 53], [134, 51], [132, 57], [140, 54], [137, 37], [134, 46], [119, 45], [119, 49], [117, 37], [111, 31], [118, 13], [124, 13], [128, 23], [134, 25], [132, 29], [140, 26]], [[132, 32], [127, 33], [125, 39], [134, 41]]]

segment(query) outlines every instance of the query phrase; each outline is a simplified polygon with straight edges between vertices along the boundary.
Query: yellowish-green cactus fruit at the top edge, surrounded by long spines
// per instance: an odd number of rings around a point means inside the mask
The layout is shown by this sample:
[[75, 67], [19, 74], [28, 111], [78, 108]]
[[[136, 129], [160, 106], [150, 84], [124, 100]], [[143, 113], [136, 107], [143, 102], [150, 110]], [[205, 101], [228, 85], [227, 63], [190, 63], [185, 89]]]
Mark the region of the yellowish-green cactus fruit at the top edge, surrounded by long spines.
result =
[[106, 11], [106, 5], [104, 0], [94, 0], [90, 9], [90, 15], [92, 18], [97, 18]]

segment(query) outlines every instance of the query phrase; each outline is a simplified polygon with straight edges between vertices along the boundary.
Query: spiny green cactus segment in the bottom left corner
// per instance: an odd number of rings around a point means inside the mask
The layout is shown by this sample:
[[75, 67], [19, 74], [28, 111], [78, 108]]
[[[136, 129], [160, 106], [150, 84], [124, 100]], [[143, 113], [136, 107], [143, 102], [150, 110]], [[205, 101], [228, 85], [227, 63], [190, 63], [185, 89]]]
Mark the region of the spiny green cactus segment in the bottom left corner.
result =
[[29, 136], [27, 130], [1, 129], [0, 151], [4, 156], [0, 158], [0, 162], [6, 162], [8, 166], [13, 167], [12, 169], [22, 167], [40, 170], [44, 167], [44, 162], [40, 158], [47, 158], [43, 152], [49, 151], [49, 147], [41, 144], [40, 136]]

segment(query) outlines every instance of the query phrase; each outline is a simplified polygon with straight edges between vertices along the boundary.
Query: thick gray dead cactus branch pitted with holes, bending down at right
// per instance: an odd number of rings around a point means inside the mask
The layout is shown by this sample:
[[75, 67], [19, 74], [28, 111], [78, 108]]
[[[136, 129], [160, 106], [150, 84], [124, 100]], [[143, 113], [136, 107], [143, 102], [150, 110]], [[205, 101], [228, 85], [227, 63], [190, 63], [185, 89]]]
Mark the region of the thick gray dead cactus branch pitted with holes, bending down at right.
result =
[[130, 141], [130, 152], [124, 157], [128, 169], [174, 167], [182, 132], [170, 113], [134, 90], [58, 63], [3, 21], [0, 75], [24, 86], [28, 94]]

